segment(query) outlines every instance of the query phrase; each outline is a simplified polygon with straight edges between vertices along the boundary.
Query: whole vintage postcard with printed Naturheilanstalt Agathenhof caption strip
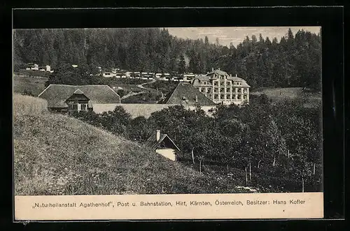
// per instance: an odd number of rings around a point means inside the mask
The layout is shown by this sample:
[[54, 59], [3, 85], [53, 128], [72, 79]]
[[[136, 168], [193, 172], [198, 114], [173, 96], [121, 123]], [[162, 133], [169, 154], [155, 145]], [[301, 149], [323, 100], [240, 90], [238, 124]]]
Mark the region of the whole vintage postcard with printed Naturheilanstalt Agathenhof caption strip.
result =
[[15, 220], [323, 218], [321, 40], [14, 29]]

